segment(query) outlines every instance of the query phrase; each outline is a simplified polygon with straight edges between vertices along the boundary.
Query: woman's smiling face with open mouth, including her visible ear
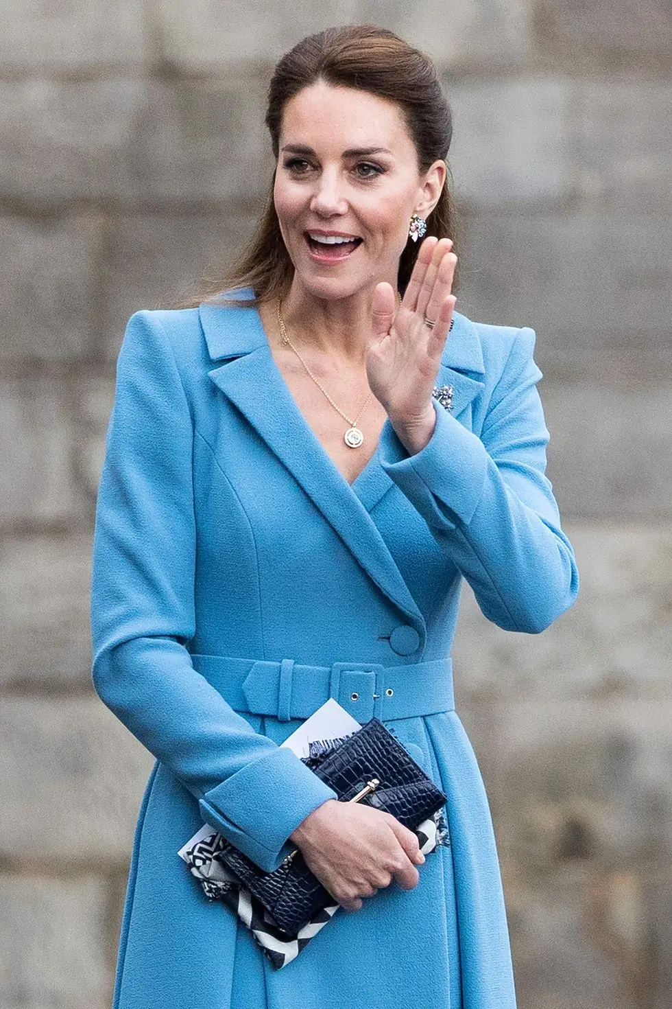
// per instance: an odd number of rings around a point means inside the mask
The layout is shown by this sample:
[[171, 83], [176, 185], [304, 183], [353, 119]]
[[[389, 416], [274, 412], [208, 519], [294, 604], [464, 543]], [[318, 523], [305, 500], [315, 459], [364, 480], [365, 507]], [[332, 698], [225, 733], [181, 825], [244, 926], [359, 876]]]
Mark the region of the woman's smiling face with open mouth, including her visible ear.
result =
[[388, 281], [413, 213], [427, 217], [445, 180], [420, 172], [394, 102], [318, 82], [286, 105], [274, 203], [295, 282], [318, 298], [352, 297]]

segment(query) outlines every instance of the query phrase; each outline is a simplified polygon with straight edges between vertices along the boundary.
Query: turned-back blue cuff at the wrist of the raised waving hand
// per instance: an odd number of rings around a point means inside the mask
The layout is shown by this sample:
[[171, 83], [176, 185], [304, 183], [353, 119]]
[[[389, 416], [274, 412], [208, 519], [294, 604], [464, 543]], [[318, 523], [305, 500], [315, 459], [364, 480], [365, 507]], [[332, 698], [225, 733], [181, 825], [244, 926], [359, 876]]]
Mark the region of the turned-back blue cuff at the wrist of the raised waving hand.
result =
[[480, 438], [432, 400], [436, 424], [431, 438], [410, 455], [386, 420], [379, 442], [380, 461], [430, 526], [468, 525], [483, 494], [488, 453]]

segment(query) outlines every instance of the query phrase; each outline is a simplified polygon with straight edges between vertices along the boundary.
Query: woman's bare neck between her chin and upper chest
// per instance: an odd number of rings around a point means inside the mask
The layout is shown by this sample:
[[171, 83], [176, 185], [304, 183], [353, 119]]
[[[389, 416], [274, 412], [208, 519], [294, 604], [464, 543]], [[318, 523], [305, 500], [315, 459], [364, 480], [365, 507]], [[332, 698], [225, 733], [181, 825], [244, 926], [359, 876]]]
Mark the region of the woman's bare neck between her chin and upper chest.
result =
[[316, 298], [296, 279], [282, 303], [282, 317], [289, 338], [300, 346], [314, 347], [329, 357], [364, 366], [371, 339], [371, 305], [374, 289], [348, 298]]

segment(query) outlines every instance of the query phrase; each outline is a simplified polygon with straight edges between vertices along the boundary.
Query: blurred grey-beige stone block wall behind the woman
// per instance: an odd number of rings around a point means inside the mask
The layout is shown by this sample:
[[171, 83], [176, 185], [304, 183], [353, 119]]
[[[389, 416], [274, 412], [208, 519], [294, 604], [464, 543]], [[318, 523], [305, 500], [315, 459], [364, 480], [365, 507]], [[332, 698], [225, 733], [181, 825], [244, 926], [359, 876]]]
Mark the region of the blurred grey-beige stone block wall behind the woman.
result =
[[0, 1006], [111, 1002], [152, 758], [90, 681], [114, 363], [138, 308], [249, 234], [274, 61], [373, 20], [455, 119], [457, 307], [533, 326], [582, 575], [539, 637], [466, 594], [458, 709], [521, 1009], [672, 1000], [672, 10], [663, 0], [1, 0]]

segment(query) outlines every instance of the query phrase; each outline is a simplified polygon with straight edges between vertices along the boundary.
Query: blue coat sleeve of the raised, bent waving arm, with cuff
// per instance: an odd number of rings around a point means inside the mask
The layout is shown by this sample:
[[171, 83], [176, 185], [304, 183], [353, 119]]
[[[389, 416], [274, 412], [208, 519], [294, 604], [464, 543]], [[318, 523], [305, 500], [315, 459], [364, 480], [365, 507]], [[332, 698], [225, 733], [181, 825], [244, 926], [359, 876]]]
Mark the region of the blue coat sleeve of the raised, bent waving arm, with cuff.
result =
[[545, 630], [574, 601], [578, 573], [546, 472], [549, 435], [537, 390], [535, 333], [519, 330], [481, 437], [432, 401], [436, 425], [409, 454], [386, 421], [381, 462], [507, 631]]

